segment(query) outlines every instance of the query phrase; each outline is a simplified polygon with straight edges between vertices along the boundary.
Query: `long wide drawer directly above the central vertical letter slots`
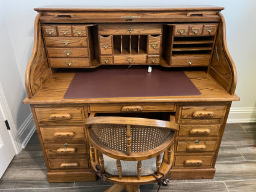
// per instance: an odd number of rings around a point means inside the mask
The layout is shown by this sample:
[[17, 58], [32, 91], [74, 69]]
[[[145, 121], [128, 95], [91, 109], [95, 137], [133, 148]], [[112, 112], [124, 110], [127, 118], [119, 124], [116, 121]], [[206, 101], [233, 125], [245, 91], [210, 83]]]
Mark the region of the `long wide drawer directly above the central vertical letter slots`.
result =
[[98, 25], [98, 34], [161, 34], [161, 24], [102, 24]]

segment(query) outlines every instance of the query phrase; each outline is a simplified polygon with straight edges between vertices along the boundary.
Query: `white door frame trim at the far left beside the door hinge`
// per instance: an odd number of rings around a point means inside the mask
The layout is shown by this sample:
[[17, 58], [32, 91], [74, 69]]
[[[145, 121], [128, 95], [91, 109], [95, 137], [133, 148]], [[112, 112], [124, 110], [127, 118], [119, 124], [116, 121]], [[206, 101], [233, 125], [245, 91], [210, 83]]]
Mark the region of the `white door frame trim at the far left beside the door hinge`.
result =
[[12, 118], [12, 114], [10, 113], [10, 108], [7, 104], [6, 96], [4, 95], [4, 90], [2, 89], [2, 84], [0, 82], [0, 113], [4, 120], [9, 122], [10, 130], [10, 138], [12, 139], [12, 143], [14, 144], [15, 153], [18, 154], [22, 151], [22, 144], [20, 143], [20, 139], [18, 138], [17, 127], [14, 124], [14, 119]]

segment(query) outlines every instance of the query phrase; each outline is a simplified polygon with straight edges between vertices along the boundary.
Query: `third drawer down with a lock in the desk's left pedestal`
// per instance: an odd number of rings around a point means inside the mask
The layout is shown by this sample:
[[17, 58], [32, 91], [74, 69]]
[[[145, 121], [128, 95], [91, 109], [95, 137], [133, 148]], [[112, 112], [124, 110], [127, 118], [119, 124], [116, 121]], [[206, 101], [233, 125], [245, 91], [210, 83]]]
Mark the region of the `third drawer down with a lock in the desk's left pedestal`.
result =
[[49, 158], [65, 158], [66, 156], [76, 156], [83, 158], [85, 154], [89, 154], [88, 143], [61, 143], [61, 144], [44, 144], [46, 153]]

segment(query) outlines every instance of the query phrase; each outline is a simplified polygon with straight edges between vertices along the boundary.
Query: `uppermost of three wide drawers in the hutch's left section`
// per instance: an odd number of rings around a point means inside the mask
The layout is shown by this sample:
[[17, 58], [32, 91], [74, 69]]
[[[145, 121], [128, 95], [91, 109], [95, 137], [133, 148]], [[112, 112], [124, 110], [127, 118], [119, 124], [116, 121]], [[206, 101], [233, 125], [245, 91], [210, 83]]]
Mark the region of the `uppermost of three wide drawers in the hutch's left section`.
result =
[[87, 38], [53, 38], [46, 37], [47, 47], [87, 47]]

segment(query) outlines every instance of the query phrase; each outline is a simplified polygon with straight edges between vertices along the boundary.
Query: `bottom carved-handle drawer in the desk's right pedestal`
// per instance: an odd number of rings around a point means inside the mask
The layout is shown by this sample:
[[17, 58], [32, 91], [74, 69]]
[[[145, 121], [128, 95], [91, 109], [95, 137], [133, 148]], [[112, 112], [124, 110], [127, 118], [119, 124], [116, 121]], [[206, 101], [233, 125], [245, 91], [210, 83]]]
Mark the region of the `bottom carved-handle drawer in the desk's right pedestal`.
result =
[[214, 156], [175, 156], [174, 168], [209, 168], [213, 160]]

